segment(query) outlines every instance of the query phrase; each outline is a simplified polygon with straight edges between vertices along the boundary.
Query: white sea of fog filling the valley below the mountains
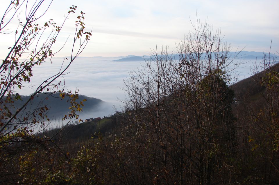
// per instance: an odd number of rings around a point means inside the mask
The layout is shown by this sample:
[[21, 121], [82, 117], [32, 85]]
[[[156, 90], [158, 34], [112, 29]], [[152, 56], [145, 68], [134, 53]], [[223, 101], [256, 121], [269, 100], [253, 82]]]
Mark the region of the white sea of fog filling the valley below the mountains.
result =
[[[69, 59], [69, 58], [68, 58]], [[115, 108], [121, 110], [120, 100], [124, 100], [125, 92], [123, 89], [124, 81], [129, 77], [129, 72], [133, 69], [142, 68], [145, 62], [139, 61], [113, 61], [115, 58], [105, 57], [78, 57], [68, 68], [65, 75], [62, 75], [56, 82], [65, 81], [65, 86], [69, 90], [79, 90], [79, 94], [89, 97], [95, 97], [103, 100], [105, 103], [97, 109], [90, 111], [89, 115], [81, 114], [82, 119], [90, 117], [104, 117], [115, 113]], [[41, 66], [33, 68], [34, 77], [29, 87], [22, 88], [20, 94], [30, 95], [33, 89], [42, 81], [48, 79], [53, 74], [60, 71], [63, 58], [52, 58], [52, 62], [42, 63]], [[238, 59], [235, 62], [242, 62], [235, 69], [238, 75], [237, 81], [247, 78], [251, 74], [251, 68], [255, 64], [255, 59]], [[65, 60], [63, 66], [68, 64], [69, 60]], [[63, 68], [62, 66], [62, 68]]]

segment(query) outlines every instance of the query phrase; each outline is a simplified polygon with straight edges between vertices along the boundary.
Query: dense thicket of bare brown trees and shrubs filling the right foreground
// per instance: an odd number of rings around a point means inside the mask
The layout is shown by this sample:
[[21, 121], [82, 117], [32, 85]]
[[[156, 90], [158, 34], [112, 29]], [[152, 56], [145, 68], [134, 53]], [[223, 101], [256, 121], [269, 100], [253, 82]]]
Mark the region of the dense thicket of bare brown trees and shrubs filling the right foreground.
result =
[[130, 73], [122, 126], [75, 159], [90, 172], [74, 174], [80, 184], [279, 182], [275, 59], [265, 56], [250, 83], [228, 87], [236, 56], [219, 33], [194, 28], [178, 44], [178, 62], [155, 50]]

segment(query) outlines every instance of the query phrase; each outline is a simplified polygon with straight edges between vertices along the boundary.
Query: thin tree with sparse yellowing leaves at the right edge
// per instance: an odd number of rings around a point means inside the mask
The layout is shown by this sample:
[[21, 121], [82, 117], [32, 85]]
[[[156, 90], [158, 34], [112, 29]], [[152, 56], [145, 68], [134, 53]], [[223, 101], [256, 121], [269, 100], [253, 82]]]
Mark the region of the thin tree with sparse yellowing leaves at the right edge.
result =
[[279, 66], [277, 56], [271, 51], [263, 52], [260, 64], [255, 64], [253, 76], [256, 84], [254, 96], [257, 102], [250, 100], [245, 106], [248, 109], [253, 128], [248, 137], [251, 150], [249, 158], [261, 159], [255, 168], [259, 174], [255, 177], [269, 182], [277, 182], [279, 175]]

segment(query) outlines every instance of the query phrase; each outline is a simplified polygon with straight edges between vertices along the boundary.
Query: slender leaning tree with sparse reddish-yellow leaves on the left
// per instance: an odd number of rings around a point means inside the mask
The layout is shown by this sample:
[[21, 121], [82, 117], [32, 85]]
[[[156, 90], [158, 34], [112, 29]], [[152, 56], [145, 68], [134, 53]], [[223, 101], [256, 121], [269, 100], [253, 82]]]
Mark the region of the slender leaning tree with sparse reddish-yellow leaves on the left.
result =
[[[63, 118], [64, 120], [67, 119], [68, 123], [72, 119], [78, 119], [77, 111], [81, 111], [81, 106], [83, 106], [83, 101], [78, 101], [77, 91], [66, 91], [65, 82], [56, 82], [56, 79], [65, 74], [72, 62], [81, 54], [90, 39], [91, 33], [85, 31], [85, 13], [82, 11], [77, 16], [75, 23], [76, 28], [70, 51], [71, 57], [69, 59], [64, 58], [60, 71], [51, 75], [48, 79], [44, 79], [27, 101], [22, 102], [21, 100], [21, 89], [35, 78], [33, 67], [40, 66], [59, 52], [59, 50], [52, 50], [53, 45], [64, 27], [66, 19], [70, 14], [77, 11], [76, 6], [71, 6], [60, 26], [52, 19], [45, 21], [44, 25], [39, 25], [38, 22], [49, 10], [51, 2], [47, 3], [44, 0], [34, 2], [12, 0], [1, 17], [0, 34], [15, 35], [15, 41], [11, 41], [10, 50], [0, 65], [1, 183], [12, 183], [14, 175], [19, 173], [17, 157], [20, 155], [28, 156], [30, 152], [30, 155], [34, 155], [32, 152], [37, 152], [38, 148], [46, 148], [47, 142], [53, 141], [55, 138], [39, 138], [35, 135], [40, 130], [35, 131], [34, 126], [44, 129], [50, 121], [47, 117], [48, 108], [44, 104], [37, 105], [37, 108], [33, 110], [26, 109], [26, 106], [32, 103], [35, 96], [49, 91], [60, 93], [61, 99], [68, 97], [71, 109], [69, 114]], [[22, 11], [24, 12], [23, 17], [19, 13]], [[19, 21], [17, 29], [8, 33], [7, 30], [10, 29], [12, 22], [17, 19]], [[82, 35], [84, 36], [82, 37]], [[26, 59], [23, 59], [23, 57]], [[15, 106], [17, 102], [20, 102], [20, 104]]]

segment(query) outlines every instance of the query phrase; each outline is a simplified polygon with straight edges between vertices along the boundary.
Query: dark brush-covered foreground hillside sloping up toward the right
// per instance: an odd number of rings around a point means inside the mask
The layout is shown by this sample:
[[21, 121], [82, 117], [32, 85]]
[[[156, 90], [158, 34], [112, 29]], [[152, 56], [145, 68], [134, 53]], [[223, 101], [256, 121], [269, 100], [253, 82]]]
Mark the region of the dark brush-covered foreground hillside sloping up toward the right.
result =
[[146, 94], [142, 107], [132, 99], [123, 114], [42, 133], [60, 132], [60, 151], [28, 161], [56, 164], [36, 168], [50, 175], [42, 184], [277, 184], [278, 64], [270, 67], [229, 87], [207, 75], [202, 88]]

